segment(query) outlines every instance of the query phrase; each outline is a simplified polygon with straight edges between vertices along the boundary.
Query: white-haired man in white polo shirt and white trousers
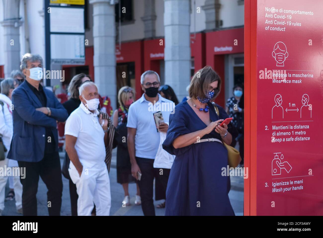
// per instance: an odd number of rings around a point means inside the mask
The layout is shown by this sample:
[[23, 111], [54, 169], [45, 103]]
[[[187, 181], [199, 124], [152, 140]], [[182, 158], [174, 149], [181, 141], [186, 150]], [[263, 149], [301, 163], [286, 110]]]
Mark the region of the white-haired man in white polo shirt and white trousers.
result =
[[79, 87], [80, 106], [65, 124], [69, 175], [78, 193], [78, 216], [90, 216], [93, 202], [97, 216], [109, 216], [111, 207], [110, 180], [104, 139], [108, 120], [98, 118], [99, 93], [93, 82]]

